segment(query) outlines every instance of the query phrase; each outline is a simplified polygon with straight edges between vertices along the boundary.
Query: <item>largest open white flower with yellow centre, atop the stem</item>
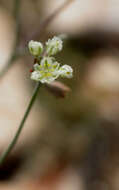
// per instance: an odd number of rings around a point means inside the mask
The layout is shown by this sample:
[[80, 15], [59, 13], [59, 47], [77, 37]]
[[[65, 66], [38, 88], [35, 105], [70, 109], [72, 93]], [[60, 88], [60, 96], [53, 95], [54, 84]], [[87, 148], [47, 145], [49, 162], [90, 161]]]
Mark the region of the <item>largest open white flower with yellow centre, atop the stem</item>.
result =
[[34, 65], [34, 71], [31, 74], [31, 79], [40, 81], [41, 83], [51, 83], [59, 77], [60, 64], [54, 61], [52, 57], [44, 57], [40, 65]]

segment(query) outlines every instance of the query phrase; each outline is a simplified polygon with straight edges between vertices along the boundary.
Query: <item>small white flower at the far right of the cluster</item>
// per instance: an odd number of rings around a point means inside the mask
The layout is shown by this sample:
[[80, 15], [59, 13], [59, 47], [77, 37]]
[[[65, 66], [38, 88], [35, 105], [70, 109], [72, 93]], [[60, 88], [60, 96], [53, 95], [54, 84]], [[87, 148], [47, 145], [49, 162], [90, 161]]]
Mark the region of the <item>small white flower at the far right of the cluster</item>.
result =
[[62, 67], [60, 67], [59, 73], [61, 77], [72, 78], [73, 69], [69, 65], [63, 65]]

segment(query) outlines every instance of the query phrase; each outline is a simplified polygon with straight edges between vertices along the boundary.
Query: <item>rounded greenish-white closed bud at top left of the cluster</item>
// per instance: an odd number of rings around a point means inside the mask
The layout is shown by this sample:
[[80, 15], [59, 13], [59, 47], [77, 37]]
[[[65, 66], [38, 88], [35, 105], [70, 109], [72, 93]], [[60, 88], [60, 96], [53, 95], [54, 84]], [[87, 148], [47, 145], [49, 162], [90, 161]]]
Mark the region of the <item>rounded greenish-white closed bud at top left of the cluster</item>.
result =
[[43, 52], [43, 45], [41, 42], [31, 40], [28, 44], [29, 51], [34, 56], [39, 56]]

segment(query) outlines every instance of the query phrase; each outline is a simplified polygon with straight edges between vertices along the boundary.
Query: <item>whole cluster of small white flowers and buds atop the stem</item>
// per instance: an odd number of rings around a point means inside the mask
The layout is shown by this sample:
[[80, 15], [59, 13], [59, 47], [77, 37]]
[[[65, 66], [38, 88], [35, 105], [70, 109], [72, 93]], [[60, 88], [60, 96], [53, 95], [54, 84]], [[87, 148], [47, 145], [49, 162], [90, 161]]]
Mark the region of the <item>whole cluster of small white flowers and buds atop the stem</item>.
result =
[[28, 47], [30, 53], [37, 60], [31, 74], [32, 80], [40, 81], [41, 83], [51, 83], [59, 76], [72, 77], [72, 68], [69, 65], [60, 66], [60, 63], [52, 57], [63, 48], [63, 42], [59, 37], [49, 39], [45, 48], [43, 48], [42, 43], [33, 40], [29, 42]]

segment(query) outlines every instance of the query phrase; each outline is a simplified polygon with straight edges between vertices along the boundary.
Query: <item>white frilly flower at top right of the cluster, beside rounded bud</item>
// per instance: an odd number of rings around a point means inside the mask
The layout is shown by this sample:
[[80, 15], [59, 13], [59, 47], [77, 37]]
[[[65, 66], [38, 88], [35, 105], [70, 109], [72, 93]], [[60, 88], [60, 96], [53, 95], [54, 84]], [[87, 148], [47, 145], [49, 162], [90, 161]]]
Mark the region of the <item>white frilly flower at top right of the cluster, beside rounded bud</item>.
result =
[[59, 37], [54, 37], [46, 42], [46, 52], [48, 56], [55, 55], [63, 48], [63, 42]]

